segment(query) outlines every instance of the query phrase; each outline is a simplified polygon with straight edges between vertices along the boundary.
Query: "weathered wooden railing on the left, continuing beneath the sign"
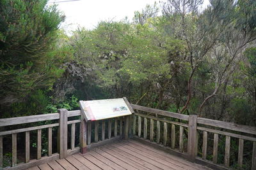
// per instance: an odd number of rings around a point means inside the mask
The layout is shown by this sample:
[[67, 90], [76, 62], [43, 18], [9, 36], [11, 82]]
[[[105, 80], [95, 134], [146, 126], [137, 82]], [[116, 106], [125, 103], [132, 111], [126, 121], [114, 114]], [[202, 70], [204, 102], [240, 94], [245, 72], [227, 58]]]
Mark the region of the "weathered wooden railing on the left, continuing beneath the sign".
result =
[[[68, 120], [70, 118], [72, 120]], [[51, 122], [49, 123], [49, 121]], [[105, 137], [106, 121], [108, 122], [108, 139], [106, 139]], [[26, 127], [22, 129], [16, 128], [17, 125], [20, 124], [30, 124], [36, 122], [44, 122], [45, 125]], [[49, 113], [28, 117], [2, 118], [0, 119], [1, 128], [4, 127], [4, 129], [8, 129], [9, 126], [15, 126], [15, 129], [0, 132], [0, 169], [28, 169], [29, 167], [38, 166], [51, 160], [63, 159], [68, 155], [78, 153], [80, 150], [81, 152], [84, 152], [83, 148], [92, 148], [93, 146], [99, 146], [123, 136], [125, 139], [127, 139], [129, 137], [129, 122], [131, 122], [131, 120], [129, 120], [129, 117], [119, 117], [86, 123], [83, 118], [81, 119], [80, 110], [67, 111], [65, 109], [58, 110], [58, 113]], [[76, 128], [76, 124], [80, 124], [79, 129]], [[68, 126], [71, 126], [70, 131], [68, 131]], [[52, 153], [52, 128], [54, 127], [58, 128], [56, 153]], [[13, 127], [11, 127], [11, 129], [13, 129]], [[42, 129], [48, 129], [48, 153], [45, 157], [42, 157], [41, 152]], [[76, 132], [76, 130], [78, 130], [79, 132]], [[31, 131], [37, 131], [37, 152], [36, 159], [33, 160], [30, 159], [31, 139], [29, 138], [29, 134]], [[99, 131], [101, 139], [99, 139]], [[21, 139], [23, 140], [22, 143], [25, 143], [25, 160], [24, 162], [17, 164], [17, 134], [22, 132], [25, 133], [25, 139]], [[68, 140], [68, 132], [70, 134], [70, 140]], [[10, 134], [12, 134], [12, 165], [10, 167], [3, 167], [3, 149], [5, 146], [3, 145], [3, 142], [4, 139], [8, 138], [7, 136]], [[92, 139], [92, 134], [94, 136], [94, 139]], [[76, 141], [76, 137], [78, 136], [79, 141]], [[68, 146], [68, 141], [70, 141], [70, 146]], [[75, 143], [79, 143], [77, 147]]]

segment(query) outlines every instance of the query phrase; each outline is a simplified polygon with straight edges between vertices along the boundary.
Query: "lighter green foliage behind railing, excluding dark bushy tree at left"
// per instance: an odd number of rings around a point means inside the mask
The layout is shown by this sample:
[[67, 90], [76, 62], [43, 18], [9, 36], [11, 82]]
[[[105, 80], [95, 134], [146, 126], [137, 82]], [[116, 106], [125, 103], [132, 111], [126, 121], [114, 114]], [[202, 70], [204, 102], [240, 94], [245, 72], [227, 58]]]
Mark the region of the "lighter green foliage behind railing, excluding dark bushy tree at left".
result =
[[[255, 125], [254, 1], [156, 4], [134, 22], [78, 29], [72, 61], [54, 85], [54, 99], [127, 96], [132, 103]], [[254, 82], [254, 83], [253, 83]], [[250, 120], [250, 121], [248, 121]]]

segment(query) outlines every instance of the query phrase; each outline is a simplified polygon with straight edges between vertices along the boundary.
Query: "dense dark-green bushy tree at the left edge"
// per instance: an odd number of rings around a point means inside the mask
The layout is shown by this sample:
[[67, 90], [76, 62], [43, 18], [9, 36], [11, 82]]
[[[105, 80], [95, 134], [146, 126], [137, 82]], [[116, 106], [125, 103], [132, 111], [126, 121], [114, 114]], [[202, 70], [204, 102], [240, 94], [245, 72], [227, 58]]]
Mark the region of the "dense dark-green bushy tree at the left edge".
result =
[[0, 1], [0, 104], [26, 99], [63, 72], [54, 53], [64, 16], [46, 0]]

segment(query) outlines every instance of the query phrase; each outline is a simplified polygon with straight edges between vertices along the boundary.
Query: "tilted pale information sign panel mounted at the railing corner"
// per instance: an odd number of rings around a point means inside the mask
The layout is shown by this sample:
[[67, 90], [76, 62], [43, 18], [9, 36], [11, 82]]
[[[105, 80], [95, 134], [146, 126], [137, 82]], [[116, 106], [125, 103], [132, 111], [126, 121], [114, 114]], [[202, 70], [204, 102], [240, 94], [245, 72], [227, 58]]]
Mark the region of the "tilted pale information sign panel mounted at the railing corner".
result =
[[102, 120], [106, 118], [131, 115], [133, 110], [127, 99], [104, 99], [95, 101], [79, 101], [83, 117], [88, 120]]

